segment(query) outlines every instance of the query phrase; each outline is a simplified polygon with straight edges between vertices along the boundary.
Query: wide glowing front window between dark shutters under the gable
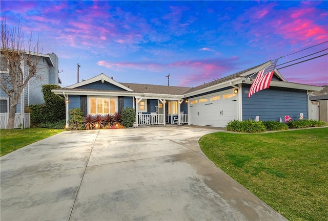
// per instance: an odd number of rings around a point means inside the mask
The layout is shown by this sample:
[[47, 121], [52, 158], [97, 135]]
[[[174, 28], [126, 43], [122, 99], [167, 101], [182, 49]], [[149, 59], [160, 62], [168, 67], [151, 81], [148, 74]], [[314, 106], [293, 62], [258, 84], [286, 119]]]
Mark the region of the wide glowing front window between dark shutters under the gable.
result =
[[115, 114], [116, 100], [116, 98], [90, 98], [90, 114]]

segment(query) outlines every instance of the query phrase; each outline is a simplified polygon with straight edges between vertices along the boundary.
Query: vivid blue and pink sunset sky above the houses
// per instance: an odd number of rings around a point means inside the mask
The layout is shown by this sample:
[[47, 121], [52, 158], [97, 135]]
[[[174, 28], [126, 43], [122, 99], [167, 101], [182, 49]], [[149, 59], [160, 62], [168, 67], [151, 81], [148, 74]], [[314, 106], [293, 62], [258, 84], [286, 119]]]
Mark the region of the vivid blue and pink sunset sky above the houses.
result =
[[[44, 54], [58, 56], [63, 87], [77, 82], [77, 63], [79, 81], [104, 73], [117, 82], [167, 85], [170, 74], [171, 86], [195, 87], [281, 56], [278, 69], [328, 52], [327, 1], [0, 4], [10, 28], [22, 25], [26, 40], [32, 33]], [[328, 56], [279, 72], [289, 82], [328, 85]]]

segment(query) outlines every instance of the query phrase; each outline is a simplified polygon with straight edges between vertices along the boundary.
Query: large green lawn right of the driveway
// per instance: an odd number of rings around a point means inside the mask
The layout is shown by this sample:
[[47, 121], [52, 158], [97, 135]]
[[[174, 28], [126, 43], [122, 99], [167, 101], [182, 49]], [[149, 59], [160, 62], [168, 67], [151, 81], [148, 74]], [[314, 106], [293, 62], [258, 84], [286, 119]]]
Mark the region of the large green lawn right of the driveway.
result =
[[289, 220], [327, 220], [328, 128], [202, 137], [224, 172]]

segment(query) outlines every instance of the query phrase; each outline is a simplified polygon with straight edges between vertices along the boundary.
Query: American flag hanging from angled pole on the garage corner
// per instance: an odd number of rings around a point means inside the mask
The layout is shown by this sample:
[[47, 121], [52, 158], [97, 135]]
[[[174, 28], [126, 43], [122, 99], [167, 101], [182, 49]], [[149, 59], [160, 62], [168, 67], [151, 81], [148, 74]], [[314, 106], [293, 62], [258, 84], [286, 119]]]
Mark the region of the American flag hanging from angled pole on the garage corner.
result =
[[278, 59], [271, 61], [271, 64], [267, 68], [264, 68], [258, 72], [254, 82], [251, 85], [248, 97], [251, 97], [256, 92], [269, 88], [277, 61]]

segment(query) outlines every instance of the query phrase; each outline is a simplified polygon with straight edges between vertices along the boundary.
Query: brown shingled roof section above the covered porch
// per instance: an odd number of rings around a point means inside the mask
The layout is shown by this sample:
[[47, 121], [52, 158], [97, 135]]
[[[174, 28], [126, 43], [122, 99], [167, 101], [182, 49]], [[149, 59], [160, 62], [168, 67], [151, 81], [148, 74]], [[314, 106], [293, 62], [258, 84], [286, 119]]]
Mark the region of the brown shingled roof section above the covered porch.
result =
[[154, 84], [138, 84], [138, 83], [121, 83], [138, 93], [148, 94], [168, 94], [168, 95], [183, 95], [190, 90], [190, 87], [165, 86]]

